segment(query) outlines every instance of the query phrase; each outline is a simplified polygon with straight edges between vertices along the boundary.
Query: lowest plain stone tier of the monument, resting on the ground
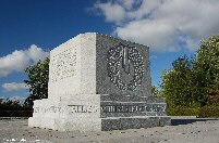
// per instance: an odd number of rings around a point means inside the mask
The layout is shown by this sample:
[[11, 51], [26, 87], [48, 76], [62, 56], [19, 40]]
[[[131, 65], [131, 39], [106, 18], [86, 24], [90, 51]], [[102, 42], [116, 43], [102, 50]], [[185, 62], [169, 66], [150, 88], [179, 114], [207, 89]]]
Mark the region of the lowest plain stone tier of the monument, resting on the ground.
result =
[[126, 130], [151, 127], [169, 126], [170, 117], [168, 116], [136, 116], [122, 118], [99, 118], [96, 121], [88, 120], [78, 121], [74, 118], [42, 118], [31, 117], [28, 119], [29, 127], [39, 127], [41, 129], [52, 129], [58, 131], [111, 131], [111, 130]]

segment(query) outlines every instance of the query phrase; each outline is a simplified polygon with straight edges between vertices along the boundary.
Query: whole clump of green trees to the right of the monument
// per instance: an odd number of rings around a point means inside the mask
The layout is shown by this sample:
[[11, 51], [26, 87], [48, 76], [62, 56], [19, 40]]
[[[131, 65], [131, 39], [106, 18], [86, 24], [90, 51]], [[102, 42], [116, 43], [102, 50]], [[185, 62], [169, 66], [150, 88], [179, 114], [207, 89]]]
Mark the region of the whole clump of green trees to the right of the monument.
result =
[[219, 95], [219, 36], [202, 40], [195, 58], [175, 60], [162, 75], [161, 93], [171, 107], [205, 106]]

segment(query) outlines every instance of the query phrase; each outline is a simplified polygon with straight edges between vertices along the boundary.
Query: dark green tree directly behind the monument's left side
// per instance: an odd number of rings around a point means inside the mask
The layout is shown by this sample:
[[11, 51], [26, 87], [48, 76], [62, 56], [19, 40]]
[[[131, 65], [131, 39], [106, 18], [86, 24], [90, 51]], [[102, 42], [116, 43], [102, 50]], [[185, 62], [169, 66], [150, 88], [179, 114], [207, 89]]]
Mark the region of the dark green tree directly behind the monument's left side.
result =
[[25, 100], [25, 105], [34, 105], [33, 101], [48, 98], [49, 80], [49, 58], [38, 61], [25, 69], [28, 76], [24, 82], [29, 87], [29, 96]]

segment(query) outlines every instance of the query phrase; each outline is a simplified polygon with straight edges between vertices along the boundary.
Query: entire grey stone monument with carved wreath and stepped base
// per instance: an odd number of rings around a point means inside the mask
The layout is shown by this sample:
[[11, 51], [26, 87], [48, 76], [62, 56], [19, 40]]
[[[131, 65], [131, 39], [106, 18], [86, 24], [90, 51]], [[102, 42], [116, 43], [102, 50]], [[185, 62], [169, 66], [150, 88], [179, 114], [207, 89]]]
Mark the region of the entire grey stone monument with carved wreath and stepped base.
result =
[[170, 125], [151, 95], [149, 48], [87, 32], [50, 52], [48, 99], [34, 102], [29, 127], [108, 131]]

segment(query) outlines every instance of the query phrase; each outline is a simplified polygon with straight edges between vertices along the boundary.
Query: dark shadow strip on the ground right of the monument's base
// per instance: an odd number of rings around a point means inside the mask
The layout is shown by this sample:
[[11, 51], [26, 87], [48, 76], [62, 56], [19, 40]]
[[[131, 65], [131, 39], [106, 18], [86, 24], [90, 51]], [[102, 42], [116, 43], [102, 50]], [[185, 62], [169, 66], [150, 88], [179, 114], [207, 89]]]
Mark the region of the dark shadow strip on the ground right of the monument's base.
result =
[[195, 119], [171, 119], [172, 126], [188, 125], [196, 121], [218, 120], [216, 118], [195, 118]]

